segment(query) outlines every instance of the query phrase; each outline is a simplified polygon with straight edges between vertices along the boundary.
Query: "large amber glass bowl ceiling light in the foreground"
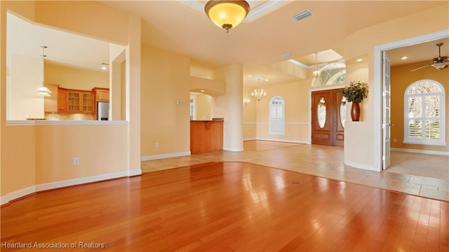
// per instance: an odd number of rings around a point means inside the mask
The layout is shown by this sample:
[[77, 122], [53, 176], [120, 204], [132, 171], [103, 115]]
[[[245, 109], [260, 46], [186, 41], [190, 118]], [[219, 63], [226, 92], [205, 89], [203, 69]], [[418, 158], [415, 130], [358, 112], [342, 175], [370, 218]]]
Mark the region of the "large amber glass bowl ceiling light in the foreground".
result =
[[236, 27], [246, 18], [250, 5], [247, 1], [210, 0], [204, 6], [204, 11], [217, 27], [229, 32], [229, 29]]

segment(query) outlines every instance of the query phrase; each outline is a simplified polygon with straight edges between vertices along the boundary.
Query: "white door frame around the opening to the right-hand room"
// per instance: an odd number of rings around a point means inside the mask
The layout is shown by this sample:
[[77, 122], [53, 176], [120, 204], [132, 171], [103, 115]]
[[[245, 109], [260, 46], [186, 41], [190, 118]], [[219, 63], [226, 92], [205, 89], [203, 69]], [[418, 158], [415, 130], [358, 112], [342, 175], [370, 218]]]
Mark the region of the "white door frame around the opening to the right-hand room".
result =
[[401, 48], [408, 45], [425, 43], [449, 37], [449, 29], [432, 34], [407, 38], [401, 41], [376, 45], [374, 47], [374, 155], [375, 168], [382, 171], [382, 51]]

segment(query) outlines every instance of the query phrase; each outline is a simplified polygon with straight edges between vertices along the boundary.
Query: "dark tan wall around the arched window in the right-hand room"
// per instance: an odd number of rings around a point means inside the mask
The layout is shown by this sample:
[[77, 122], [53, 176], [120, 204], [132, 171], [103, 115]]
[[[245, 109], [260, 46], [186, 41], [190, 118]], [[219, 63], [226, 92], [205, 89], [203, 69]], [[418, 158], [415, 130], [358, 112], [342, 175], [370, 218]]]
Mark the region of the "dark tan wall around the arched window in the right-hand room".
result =
[[[427, 62], [423, 62], [427, 63]], [[416, 64], [407, 64], [403, 66], [391, 67], [391, 148], [406, 148], [427, 151], [443, 151], [448, 153], [449, 146], [431, 146], [420, 144], [403, 144], [404, 140], [404, 92], [406, 88], [417, 80], [436, 80], [445, 88], [445, 142], [448, 143], [449, 136], [449, 71], [443, 69], [436, 70], [429, 66], [418, 71], [410, 72], [415, 69]], [[394, 142], [396, 139], [396, 142]]]

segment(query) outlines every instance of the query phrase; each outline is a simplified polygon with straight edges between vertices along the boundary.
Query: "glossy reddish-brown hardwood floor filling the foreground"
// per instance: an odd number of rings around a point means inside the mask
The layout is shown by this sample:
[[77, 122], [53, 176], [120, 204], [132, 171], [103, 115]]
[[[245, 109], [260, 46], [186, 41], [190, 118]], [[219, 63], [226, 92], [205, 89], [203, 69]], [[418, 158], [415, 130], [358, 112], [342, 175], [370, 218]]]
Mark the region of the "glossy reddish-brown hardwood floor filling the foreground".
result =
[[2, 207], [2, 246], [35, 242], [67, 248], [1, 251], [449, 251], [449, 202], [208, 162]]

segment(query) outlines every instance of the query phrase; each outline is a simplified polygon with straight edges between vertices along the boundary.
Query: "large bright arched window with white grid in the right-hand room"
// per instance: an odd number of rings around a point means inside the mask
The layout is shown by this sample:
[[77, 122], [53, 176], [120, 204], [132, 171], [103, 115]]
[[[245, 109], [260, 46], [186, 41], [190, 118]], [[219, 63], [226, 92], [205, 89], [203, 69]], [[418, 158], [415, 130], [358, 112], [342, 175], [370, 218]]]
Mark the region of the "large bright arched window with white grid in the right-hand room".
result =
[[445, 91], [435, 80], [418, 80], [404, 94], [404, 143], [445, 144]]

